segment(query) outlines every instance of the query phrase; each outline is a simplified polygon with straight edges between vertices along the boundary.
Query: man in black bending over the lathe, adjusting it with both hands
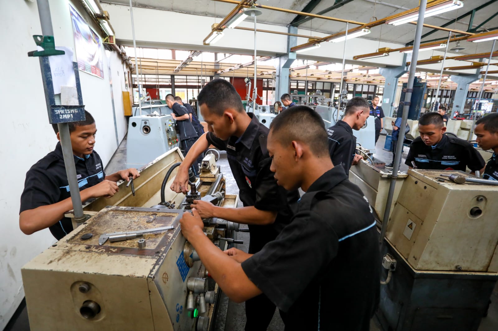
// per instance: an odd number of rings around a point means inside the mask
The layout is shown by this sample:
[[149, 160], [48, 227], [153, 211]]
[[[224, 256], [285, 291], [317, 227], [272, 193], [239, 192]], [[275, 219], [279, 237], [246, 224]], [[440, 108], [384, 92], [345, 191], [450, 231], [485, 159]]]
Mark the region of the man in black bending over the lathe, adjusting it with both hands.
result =
[[[192, 146], [179, 166], [171, 189], [186, 192], [188, 167], [212, 144], [227, 151], [242, 208], [222, 208], [195, 200], [192, 207], [202, 218], [219, 217], [249, 225], [249, 253], [255, 253], [290, 222], [289, 203], [299, 199], [297, 190], [287, 192], [279, 187], [270, 171], [271, 159], [266, 150], [268, 128], [252, 113], [246, 113], [241, 97], [229, 82], [216, 79], [207, 83], [197, 96], [198, 105], [209, 132]], [[247, 331], [266, 330], [275, 312], [275, 305], [264, 295], [246, 302]]]

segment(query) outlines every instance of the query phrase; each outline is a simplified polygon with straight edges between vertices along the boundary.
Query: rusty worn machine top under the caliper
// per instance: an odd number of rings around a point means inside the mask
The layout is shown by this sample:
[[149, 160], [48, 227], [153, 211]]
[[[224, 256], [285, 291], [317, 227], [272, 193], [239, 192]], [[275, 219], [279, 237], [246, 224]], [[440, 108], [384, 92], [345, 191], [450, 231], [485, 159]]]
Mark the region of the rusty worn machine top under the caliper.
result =
[[[67, 240], [67, 244], [68, 246], [75, 245], [73, 248], [77, 250], [82, 250], [84, 247], [85, 250], [106, 253], [159, 256], [167, 251], [180, 232], [179, 220], [182, 214], [182, 210], [174, 209], [109, 206], [87, 221], [86, 226], [78, 228], [78, 231]], [[138, 248], [138, 238], [115, 243], [108, 241], [104, 245], [99, 245], [99, 237], [104, 233], [137, 231], [164, 226], [173, 226], [174, 229], [147, 233], [140, 237], [147, 241], [146, 248]], [[86, 233], [92, 233], [93, 237], [89, 240], [82, 240], [81, 236]]]

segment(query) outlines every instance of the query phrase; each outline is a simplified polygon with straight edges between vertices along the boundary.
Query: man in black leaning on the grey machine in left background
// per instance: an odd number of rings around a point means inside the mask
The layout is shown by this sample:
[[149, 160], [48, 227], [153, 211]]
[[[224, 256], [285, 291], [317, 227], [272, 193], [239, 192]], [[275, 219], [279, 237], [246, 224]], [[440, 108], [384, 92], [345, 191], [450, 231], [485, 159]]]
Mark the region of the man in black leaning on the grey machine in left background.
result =
[[[171, 116], [176, 120], [176, 125], [178, 126], [178, 129], [180, 131], [178, 134], [180, 138], [179, 147], [182, 151], [183, 156], [185, 157], [198, 138], [197, 132], [190, 122], [188, 109], [176, 102], [175, 96], [173, 94], [166, 95], [166, 104], [173, 110]], [[194, 173], [197, 175], [199, 173], [199, 165], [196, 163], [193, 166]]]

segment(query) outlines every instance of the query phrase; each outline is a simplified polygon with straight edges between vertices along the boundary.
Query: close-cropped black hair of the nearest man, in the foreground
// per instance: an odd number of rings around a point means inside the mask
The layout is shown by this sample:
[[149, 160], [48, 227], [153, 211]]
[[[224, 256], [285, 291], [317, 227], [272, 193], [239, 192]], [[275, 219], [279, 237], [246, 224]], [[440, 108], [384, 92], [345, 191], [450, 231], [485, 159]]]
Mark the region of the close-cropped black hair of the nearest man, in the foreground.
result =
[[278, 135], [282, 145], [299, 141], [310, 147], [316, 156], [329, 156], [327, 132], [322, 118], [308, 106], [290, 107], [278, 114], [270, 124], [270, 132]]

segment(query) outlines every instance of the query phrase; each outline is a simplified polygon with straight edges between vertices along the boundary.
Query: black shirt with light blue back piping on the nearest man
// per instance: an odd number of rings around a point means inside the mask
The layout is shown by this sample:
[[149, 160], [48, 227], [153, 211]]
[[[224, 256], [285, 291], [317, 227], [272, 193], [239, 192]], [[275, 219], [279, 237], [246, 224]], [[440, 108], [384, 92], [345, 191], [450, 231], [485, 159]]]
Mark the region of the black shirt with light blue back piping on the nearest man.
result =
[[318, 178], [278, 237], [242, 263], [285, 330], [369, 330], [379, 300], [372, 208], [341, 165]]

